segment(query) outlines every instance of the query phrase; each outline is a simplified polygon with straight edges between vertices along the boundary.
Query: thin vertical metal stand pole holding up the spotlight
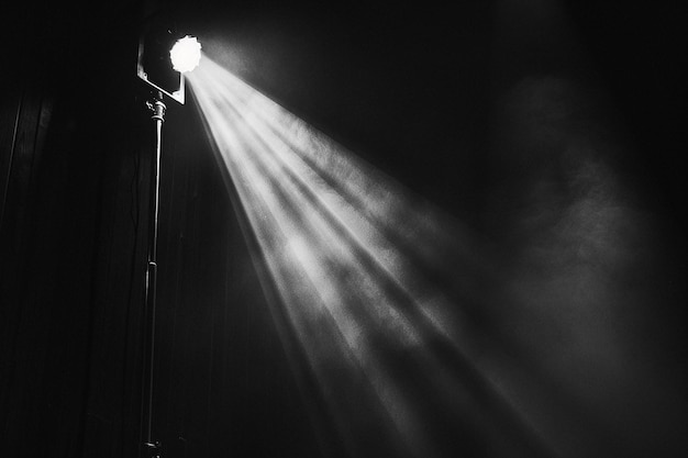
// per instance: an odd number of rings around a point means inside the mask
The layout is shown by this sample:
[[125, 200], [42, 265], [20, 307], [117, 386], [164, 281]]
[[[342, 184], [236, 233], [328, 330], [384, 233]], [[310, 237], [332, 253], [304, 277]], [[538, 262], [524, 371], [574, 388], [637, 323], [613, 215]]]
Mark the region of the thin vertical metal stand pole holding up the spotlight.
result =
[[147, 103], [153, 111], [155, 122], [155, 156], [151, 161], [151, 211], [148, 214], [148, 265], [146, 269], [145, 298], [145, 336], [144, 336], [144, 375], [141, 412], [141, 428], [144, 456], [159, 458], [160, 444], [153, 440], [153, 382], [155, 362], [155, 304], [157, 292], [157, 228], [160, 201], [160, 153], [163, 143], [163, 122], [165, 121], [165, 103], [163, 93], [158, 92]]

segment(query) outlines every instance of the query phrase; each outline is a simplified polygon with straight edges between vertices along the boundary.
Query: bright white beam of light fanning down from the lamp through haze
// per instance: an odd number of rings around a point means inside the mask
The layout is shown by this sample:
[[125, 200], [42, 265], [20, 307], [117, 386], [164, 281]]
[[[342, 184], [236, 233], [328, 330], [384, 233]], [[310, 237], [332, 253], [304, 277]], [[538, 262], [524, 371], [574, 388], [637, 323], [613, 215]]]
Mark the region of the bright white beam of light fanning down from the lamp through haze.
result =
[[211, 59], [188, 79], [279, 294], [282, 333], [349, 453], [445, 456], [458, 440], [539, 455], [464, 351], [485, 269], [469, 231]]

